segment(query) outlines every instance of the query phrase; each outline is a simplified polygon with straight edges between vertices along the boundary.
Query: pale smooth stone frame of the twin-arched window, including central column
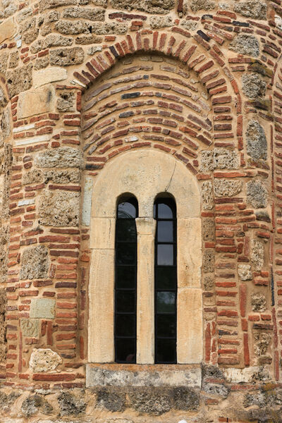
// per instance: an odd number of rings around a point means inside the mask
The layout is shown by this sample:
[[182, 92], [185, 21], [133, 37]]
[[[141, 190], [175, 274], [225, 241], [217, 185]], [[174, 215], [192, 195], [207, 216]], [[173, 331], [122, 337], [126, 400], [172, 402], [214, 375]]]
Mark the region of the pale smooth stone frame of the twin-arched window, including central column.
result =
[[[92, 192], [88, 362], [114, 363], [116, 202], [137, 198], [137, 364], [154, 364], [154, 200], [168, 192], [177, 207], [177, 363], [201, 364], [202, 228], [197, 178], [174, 157], [149, 149], [125, 152], [99, 173]], [[157, 364], [155, 364], [157, 365]], [[175, 364], [174, 364], [175, 365]], [[167, 364], [166, 364], [167, 366]]]

